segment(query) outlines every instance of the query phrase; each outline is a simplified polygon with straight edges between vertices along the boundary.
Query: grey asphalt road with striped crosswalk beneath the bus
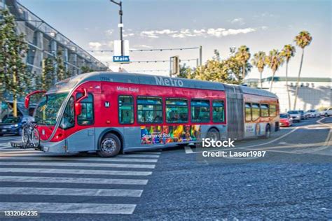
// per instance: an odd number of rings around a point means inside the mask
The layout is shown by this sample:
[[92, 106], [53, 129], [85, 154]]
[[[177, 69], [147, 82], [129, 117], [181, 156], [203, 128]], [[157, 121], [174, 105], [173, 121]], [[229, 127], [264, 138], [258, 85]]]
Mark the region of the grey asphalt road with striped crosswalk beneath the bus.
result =
[[[318, 120], [318, 122], [317, 122]], [[41, 220], [331, 220], [332, 117], [235, 148], [172, 148], [111, 159], [8, 148], [0, 138], [0, 211]], [[266, 151], [264, 157], [202, 152]], [[0, 217], [4, 218], [4, 213]]]

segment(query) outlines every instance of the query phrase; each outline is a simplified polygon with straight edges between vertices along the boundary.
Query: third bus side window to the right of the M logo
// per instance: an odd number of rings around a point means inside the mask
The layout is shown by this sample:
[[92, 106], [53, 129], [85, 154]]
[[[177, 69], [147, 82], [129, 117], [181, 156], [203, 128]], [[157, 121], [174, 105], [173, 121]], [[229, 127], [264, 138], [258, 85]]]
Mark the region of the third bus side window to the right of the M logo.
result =
[[188, 122], [188, 101], [186, 99], [166, 99], [166, 122]]

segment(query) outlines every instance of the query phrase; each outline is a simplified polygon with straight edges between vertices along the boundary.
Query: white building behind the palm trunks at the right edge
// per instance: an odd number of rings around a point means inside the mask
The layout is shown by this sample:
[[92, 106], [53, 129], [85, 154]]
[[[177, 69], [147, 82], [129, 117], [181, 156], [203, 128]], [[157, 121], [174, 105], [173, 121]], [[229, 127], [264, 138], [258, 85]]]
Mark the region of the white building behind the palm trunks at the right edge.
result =
[[[270, 90], [272, 77], [263, 78], [263, 90]], [[297, 78], [288, 78], [291, 110], [293, 110]], [[245, 83], [250, 87], [259, 87], [258, 79], [247, 79]], [[286, 78], [275, 77], [272, 92], [279, 97], [280, 111], [289, 110], [289, 100], [286, 90]], [[296, 110], [318, 109], [332, 106], [331, 78], [300, 78]]]

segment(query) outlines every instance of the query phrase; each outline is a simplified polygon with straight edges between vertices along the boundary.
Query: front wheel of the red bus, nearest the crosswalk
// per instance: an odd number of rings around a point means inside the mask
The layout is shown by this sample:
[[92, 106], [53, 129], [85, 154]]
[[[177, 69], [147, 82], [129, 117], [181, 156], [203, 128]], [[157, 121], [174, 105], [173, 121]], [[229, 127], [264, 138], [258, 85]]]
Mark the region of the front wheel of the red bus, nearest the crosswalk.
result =
[[106, 134], [102, 138], [97, 154], [100, 157], [114, 157], [121, 150], [121, 142], [115, 134]]

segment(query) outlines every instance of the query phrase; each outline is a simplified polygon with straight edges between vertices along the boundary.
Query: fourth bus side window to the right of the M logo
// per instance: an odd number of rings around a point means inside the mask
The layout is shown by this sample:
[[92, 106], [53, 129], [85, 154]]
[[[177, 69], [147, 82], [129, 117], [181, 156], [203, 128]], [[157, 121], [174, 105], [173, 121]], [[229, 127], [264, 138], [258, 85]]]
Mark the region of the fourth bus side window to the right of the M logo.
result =
[[210, 104], [206, 100], [191, 100], [191, 121], [209, 122]]

